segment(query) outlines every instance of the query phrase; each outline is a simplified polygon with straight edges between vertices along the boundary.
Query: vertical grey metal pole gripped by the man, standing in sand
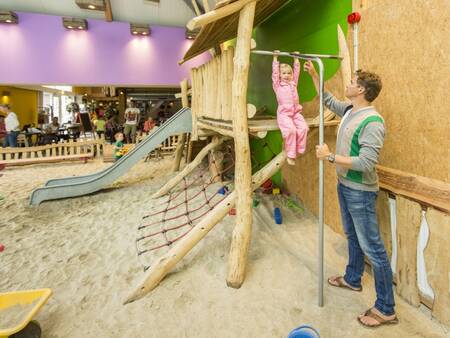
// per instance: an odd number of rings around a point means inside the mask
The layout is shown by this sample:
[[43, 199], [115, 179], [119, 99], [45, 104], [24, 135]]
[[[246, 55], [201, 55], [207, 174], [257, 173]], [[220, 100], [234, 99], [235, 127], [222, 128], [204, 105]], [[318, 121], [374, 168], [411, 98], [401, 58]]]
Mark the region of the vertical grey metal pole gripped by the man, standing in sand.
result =
[[[319, 58], [314, 59], [319, 66], [319, 144], [324, 142], [324, 118], [323, 118], [323, 62]], [[323, 280], [324, 280], [324, 173], [323, 160], [319, 161], [319, 306], [323, 307]]]

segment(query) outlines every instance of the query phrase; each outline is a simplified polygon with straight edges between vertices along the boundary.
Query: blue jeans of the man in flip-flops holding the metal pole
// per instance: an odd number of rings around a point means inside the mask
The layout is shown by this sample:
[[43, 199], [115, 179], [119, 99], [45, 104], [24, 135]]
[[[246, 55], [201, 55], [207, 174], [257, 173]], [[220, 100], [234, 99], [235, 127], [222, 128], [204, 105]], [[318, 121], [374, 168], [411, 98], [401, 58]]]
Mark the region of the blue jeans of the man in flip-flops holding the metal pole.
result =
[[344, 280], [361, 287], [364, 254], [372, 264], [377, 300], [375, 308], [389, 316], [394, 313], [392, 270], [380, 237], [375, 205], [377, 192], [355, 190], [338, 184], [342, 224], [348, 240], [348, 265]]

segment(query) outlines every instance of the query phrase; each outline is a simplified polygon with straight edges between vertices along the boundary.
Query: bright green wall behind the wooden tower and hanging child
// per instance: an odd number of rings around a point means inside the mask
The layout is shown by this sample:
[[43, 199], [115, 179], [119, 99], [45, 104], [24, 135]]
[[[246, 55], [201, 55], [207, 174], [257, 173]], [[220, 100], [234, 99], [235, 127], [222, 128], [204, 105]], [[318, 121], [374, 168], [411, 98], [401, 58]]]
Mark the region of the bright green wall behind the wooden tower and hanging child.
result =
[[[351, 0], [292, 0], [255, 28], [256, 49], [337, 54], [337, 25], [340, 24], [346, 33], [347, 15], [351, 11]], [[280, 61], [293, 62], [291, 58], [283, 57]], [[339, 68], [338, 61], [324, 60], [324, 65], [325, 79], [332, 77]], [[277, 103], [271, 74], [271, 57], [251, 56], [248, 102], [257, 107], [266, 105], [267, 114], [276, 115]], [[298, 89], [300, 103], [311, 101], [316, 95], [311, 78], [303, 71]], [[280, 132], [270, 132], [264, 140], [251, 139], [251, 148], [253, 169], [257, 170], [272, 158], [274, 152], [281, 151]], [[273, 179], [281, 184], [281, 173]]]

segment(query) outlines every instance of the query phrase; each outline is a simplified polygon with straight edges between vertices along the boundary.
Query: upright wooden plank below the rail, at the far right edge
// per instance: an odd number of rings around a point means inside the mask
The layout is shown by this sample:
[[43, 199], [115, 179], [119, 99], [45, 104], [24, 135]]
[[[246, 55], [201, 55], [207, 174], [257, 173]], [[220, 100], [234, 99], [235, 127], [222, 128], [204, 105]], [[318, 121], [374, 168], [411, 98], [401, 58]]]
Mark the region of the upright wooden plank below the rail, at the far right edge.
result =
[[450, 216], [428, 208], [426, 219], [430, 238], [425, 250], [428, 280], [434, 292], [432, 314], [450, 326]]

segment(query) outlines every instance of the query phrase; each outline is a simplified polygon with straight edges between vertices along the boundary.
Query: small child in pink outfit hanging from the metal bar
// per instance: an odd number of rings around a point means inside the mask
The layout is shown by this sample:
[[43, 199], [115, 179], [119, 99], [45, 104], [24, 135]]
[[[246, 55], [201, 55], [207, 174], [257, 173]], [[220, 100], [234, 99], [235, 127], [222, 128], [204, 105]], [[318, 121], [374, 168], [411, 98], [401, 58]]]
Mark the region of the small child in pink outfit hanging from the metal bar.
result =
[[[272, 63], [272, 85], [277, 96], [277, 122], [284, 140], [287, 162], [295, 164], [298, 154], [306, 149], [308, 124], [300, 114], [303, 110], [298, 100], [297, 84], [300, 75], [300, 62], [294, 59], [294, 71], [288, 64], [278, 62], [280, 51], [275, 50]], [[296, 52], [297, 53], [297, 52]]]

